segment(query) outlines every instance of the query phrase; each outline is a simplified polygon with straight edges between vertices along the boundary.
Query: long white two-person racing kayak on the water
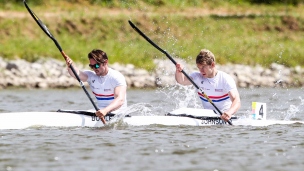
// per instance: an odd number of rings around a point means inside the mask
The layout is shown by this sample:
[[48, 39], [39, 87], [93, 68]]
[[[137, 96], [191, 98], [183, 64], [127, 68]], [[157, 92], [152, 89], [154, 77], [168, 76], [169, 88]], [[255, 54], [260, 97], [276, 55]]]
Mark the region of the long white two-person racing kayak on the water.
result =
[[[130, 126], [211, 126], [228, 125], [213, 110], [180, 108], [165, 115], [131, 116], [109, 113], [107, 124], [122, 121]], [[304, 124], [303, 121], [252, 119], [233, 116], [233, 125], [269, 126], [274, 124]], [[15, 112], [0, 114], [0, 129], [26, 129], [32, 127], [103, 127], [101, 120], [90, 110], [58, 110], [57, 112]]]

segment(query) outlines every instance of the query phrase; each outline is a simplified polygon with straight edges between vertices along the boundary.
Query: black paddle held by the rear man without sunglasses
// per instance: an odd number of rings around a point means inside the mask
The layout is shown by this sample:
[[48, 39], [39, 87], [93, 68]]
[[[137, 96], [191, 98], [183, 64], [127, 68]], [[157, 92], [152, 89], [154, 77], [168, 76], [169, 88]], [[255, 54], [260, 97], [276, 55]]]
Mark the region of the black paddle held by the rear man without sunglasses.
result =
[[[159, 46], [157, 46], [151, 39], [149, 39], [149, 37], [147, 37], [143, 32], [141, 32], [130, 20], [129, 20], [129, 24], [131, 25], [131, 27], [138, 33], [140, 34], [143, 38], [145, 38], [151, 45], [153, 45], [156, 49], [158, 49], [159, 51], [161, 51], [162, 53], [164, 53], [173, 63], [174, 65], [176, 65], [175, 60], [163, 49], [161, 49]], [[195, 82], [189, 77], [189, 75], [182, 70], [182, 73], [188, 78], [188, 80], [202, 93], [202, 95], [208, 100], [209, 103], [212, 104], [212, 106], [222, 115], [223, 113], [215, 106], [215, 104], [212, 102], [212, 100], [204, 93], [204, 91], [199, 88]], [[232, 125], [232, 123], [228, 120], [227, 121], [230, 125]]]

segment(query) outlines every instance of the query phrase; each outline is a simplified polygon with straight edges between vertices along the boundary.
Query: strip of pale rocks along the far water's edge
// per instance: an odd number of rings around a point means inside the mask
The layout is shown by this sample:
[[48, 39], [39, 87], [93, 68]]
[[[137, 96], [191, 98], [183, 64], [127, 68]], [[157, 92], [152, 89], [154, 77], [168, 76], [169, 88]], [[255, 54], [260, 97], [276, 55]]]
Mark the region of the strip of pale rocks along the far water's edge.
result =
[[[183, 63], [183, 61], [180, 61]], [[156, 88], [176, 85], [175, 67], [169, 60], [154, 60], [156, 69], [148, 72], [137, 69], [132, 64], [110, 64], [126, 78], [129, 88]], [[185, 71], [196, 70], [194, 65], [184, 63]], [[89, 69], [76, 63], [79, 69]], [[273, 63], [270, 68], [246, 65], [218, 65], [218, 69], [230, 74], [240, 88], [254, 87], [302, 87], [304, 68], [287, 68]], [[71, 88], [78, 87], [76, 79], [68, 75], [66, 64], [56, 59], [42, 59], [35, 63], [25, 60], [5, 60], [0, 58], [0, 89], [20, 88]]]

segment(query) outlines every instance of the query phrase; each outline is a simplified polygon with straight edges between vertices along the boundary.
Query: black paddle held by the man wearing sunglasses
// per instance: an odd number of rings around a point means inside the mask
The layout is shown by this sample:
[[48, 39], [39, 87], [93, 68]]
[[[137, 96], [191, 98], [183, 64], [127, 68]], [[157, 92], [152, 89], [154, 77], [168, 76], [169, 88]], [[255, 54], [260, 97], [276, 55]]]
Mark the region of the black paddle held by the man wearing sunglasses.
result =
[[[44, 31], [44, 33], [51, 38], [55, 45], [57, 46], [57, 48], [59, 49], [60, 53], [62, 54], [62, 56], [64, 57], [64, 59], [67, 59], [67, 55], [63, 52], [61, 46], [59, 45], [59, 43], [57, 42], [57, 40], [55, 39], [55, 37], [51, 34], [51, 32], [49, 31], [49, 29], [46, 27], [45, 24], [43, 24], [43, 22], [37, 17], [37, 15], [29, 8], [29, 6], [27, 5], [27, 3], [25, 2], [26, 0], [23, 0], [23, 3], [26, 7], [26, 9], [28, 10], [28, 12], [31, 14], [31, 16], [34, 18], [34, 20], [36, 21], [36, 23], [40, 26], [40, 28]], [[73, 67], [73, 65], [70, 65], [70, 68], [73, 72], [73, 74], [75, 75], [76, 79], [78, 80], [79, 84], [81, 85], [82, 89], [84, 90], [84, 92], [86, 93], [86, 95], [88, 96], [88, 98], [90, 99], [91, 103], [93, 104], [95, 110], [99, 110], [98, 107], [95, 105], [95, 103], [93, 102], [92, 98], [90, 97], [88, 91], [86, 90], [83, 82], [80, 80], [78, 74], [76, 74], [76, 71]], [[104, 117], [101, 118], [101, 121], [106, 124], [106, 121], [104, 119]]]

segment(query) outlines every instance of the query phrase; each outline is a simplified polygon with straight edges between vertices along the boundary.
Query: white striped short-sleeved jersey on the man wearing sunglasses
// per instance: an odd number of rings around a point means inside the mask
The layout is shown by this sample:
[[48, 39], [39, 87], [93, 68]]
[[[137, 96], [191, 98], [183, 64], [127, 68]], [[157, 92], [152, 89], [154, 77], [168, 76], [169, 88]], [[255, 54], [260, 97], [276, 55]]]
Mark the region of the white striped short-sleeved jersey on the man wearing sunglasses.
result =
[[[88, 75], [87, 82], [97, 99], [97, 106], [102, 109], [107, 107], [114, 100], [114, 89], [118, 86], [127, 86], [125, 77], [116, 70], [109, 68], [108, 74], [105, 76], [97, 76], [95, 72], [90, 70], [83, 71]], [[127, 107], [127, 97], [120, 109]]]

